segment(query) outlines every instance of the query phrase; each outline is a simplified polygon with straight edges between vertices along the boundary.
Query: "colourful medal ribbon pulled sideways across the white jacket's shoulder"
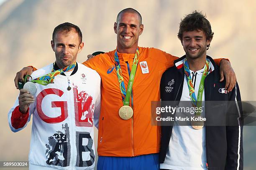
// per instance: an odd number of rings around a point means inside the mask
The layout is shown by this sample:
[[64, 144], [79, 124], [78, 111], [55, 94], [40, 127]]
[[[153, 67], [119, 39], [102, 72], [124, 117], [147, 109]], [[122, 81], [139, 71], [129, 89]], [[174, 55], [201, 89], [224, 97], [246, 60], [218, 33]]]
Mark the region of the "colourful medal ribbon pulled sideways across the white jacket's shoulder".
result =
[[[64, 72], [66, 72], [66, 71], [72, 71], [72, 70], [74, 70], [74, 67], [77, 65], [77, 62], [75, 62], [74, 64], [72, 64], [72, 65], [69, 65], [69, 66], [67, 66], [67, 67], [64, 67], [64, 68], [61, 68], [61, 69], [59, 69], [59, 70], [54, 70], [54, 68], [52, 69], [52, 72], [50, 72], [50, 73], [48, 73], [48, 74], [46, 74], [46, 75], [43, 75], [43, 76], [41, 76], [41, 77], [38, 77], [38, 78], [36, 78], [36, 79], [34, 79], [34, 80], [31, 80], [31, 82], [36, 82], [36, 83], [38, 83], [38, 84], [40, 84], [40, 85], [48, 85], [48, 84], [50, 84], [50, 83], [53, 83], [54, 82], [54, 77], [56, 76], [56, 75], [59, 75], [59, 74], [62, 74], [62, 73], [64, 73]], [[27, 77], [31, 77], [30, 75], [26, 75], [26, 77], [25, 77], [25, 83], [26, 83], [26, 78]]]

